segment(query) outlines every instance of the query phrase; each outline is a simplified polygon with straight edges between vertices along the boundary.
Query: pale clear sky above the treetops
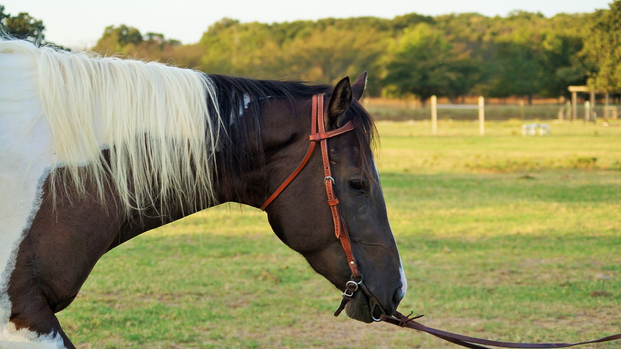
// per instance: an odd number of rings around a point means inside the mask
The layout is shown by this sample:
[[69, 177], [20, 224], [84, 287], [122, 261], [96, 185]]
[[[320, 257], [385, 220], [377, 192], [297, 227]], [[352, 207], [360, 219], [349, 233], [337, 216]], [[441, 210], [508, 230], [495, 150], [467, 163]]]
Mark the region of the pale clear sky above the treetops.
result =
[[[142, 34], [195, 43], [223, 17], [242, 22], [291, 22], [298, 19], [375, 16], [392, 18], [416, 12], [437, 16], [478, 12], [507, 16], [514, 10], [555, 14], [607, 9], [612, 0], [0, 0], [5, 11], [28, 12], [43, 20], [45, 39], [71, 48], [92, 47], [108, 25], [126, 24]], [[364, 29], [361, 29], [364, 32]]]

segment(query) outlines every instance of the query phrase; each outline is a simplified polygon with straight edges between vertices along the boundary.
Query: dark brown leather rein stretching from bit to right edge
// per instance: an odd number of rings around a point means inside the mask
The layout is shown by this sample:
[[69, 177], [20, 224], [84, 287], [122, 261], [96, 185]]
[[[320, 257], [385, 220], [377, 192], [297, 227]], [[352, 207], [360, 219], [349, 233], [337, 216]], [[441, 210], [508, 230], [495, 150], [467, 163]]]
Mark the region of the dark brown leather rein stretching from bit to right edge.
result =
[[584, 344], [592, 344], [592, 343], [602, 343], [602, 342], [610, 342], [611, 340], [619, 340], [621, 339], [621, 333], [616, 335], [607, 336], [604, 338], [599, 338], [596, 340], [589, 340], [587, 342], [579, 342], [579, 343], [511, 343], [511, 342], [497, 342], [496, 340], [487, 340], [483, 338], [476, 337], [468, 337], [465, 335], [458, 335], [456, 333], [446, 332], [442, 330], [433, 329], [432, 327], [427, 327], [425, 325], [419, 324], [415, 322], [414, 319], [418, 319], [422, 317], [422, 315], [409, 318], [401, 314], [400, 312], [395, 312], [394, 316], [381, 315], [380, 319], [384, 322], [388, 322], [389, 324], [407, 327], [408, 329], [414, 329], [422, 332], [427, 332], [430, 335], [434, 335], [435, 337], [442, 338], [451, 343], [455, 343], [457, 345], [461, 345], [466, 348], [473, 349], [487, 349], [487, 347], [483, 347], [482, 345], [489, 345], [491, 347], [501, 347], [501, 348], [521, 348], [521, 349], [545, 349], [545, 348], [567, 348], [574, 347], [576, 345], [584, 345]]

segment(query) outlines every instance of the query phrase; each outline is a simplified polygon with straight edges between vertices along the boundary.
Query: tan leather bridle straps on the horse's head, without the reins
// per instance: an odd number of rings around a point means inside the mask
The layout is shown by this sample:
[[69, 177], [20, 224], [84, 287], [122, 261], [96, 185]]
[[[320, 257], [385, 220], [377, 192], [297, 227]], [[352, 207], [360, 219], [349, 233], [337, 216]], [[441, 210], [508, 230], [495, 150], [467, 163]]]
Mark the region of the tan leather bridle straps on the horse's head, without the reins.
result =
[[[324, 185], [325, 185], [325, 193], [328, 198], [328, 206], [330, 207], [330, 212], [332, 212], [332, 221], [334, 223], [334, 233], [343, 247], [343, 251], [345, 251], [345, 256], [347, 256], [347, 264], [351, 270], [351, 281], [348, 281], [345, 285], [345, 292], [343, 292], [343, 301], [339, 306], [338, 310], [335, 312], [335, 316], [338, 316], [340, 312], [345, 308], [345, 304], [353, 297], [353, 293], [361, 288], [369, 297], [369, 302], [372, 304], [371, 314], [373, 314], [374, 307], [379, 307], [379, 309], [384, 313], [384, 310], [381, 309], [381, 306], [377, 299], [369, 292], [366, 285], [363, 283], [363, 276], [358, 270], [358, 263], [356, 263], [356, 258], [354, 258], [353, 253], [351, 252], [351, 241], [349, 238], [349, 234], [347, 232], [347, 226], [345, 225], [345, 220], [343, 220], [343, 216], [341, 215], [341, 209], [338, 204], [338, 197], [334, 190], [334, 178], [332, 177], [332, 169], [330, 168], [330, 157], [328, 155], [328, 138], [336, 137], [338, 135], [345, 134], [346, 132], [350, 132], [355, 128], [355, 124], [351, 121], [345, 123], [345, 125], [338, 127], [338, 129], [334, 129], [331, 131], [325, 131], [325, 118], [324, 118], [324, 94], [315, 94], [312, 96], [312, 123], [311, 123], [311, 135], [309, 136], [309, 141], [311, 145], [309, 146], [309, 150], [306, 152], [306, 156], [302, 162], [297, 166], [297, 168], [291, 173], [291, 175], [284, 180], [283, 184], [281, 184], [273, 194], [261, 205], [261, 210], [265, 211], [266, 207], [271, 204], [276, 197], [280, 193], [283, 192], [284, 188], [287, 188], [289, 183], [296, 178], [297, 174], [302, 171], [302, 168], [306, 166], [308, 161], [311, 159], [311, 155], [315, 150], [315, 146], [319, 143], [321, 148], [321, 157], [324, 164]], [[379, 319], [374, 319], [379, 321]]]

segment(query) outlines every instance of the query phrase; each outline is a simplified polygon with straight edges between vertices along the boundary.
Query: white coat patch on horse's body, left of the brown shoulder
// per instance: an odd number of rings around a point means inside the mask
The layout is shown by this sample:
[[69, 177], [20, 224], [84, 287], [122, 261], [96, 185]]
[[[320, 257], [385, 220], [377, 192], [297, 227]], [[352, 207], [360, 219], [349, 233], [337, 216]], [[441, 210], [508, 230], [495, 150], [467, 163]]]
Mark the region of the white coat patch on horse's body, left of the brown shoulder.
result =
[[52, 137], [39, 99], [34, 55], [0, 50], [0, 349], [65, 348], [58, 333], [16, 330], [7, 294], [17, 250], [39, 211]]

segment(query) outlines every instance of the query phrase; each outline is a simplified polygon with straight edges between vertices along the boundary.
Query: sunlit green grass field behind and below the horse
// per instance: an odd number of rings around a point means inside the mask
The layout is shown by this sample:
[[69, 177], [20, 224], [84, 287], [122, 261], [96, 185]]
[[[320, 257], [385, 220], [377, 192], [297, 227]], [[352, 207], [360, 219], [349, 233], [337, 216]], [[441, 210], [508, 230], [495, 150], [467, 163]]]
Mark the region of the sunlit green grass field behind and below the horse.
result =
[[[621, 127], [379, 122], [409, 290], [432, 327], [512, 342], [621, 332]], [[352, 232], [355, 233], [355, 232]], [[79, 348], [456, 348], [332, 312], [340, 292], [263, 212], [223, 205], [108, 253], [58, 317]], [[619, 343], [589, 348], [619, 348]]]

